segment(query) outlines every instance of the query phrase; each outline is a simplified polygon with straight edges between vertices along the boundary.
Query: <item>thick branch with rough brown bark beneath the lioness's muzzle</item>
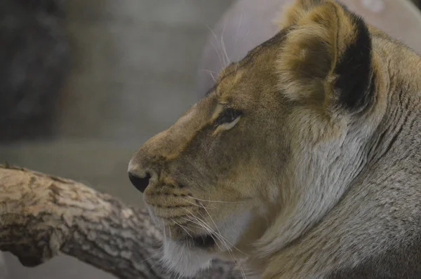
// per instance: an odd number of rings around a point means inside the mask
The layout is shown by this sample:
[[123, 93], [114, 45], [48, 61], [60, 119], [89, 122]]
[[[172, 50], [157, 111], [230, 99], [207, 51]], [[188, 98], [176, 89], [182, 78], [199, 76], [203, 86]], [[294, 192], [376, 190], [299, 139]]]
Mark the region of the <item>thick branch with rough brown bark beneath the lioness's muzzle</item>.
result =
[[[122, 279], [175, 278], [159, 262], [162, 235], [147, 212], [69, 179], [0, 166], [0, 250], [24, 266], [63, 252]], [[215, 261], [198, 278], [237, 278]]]

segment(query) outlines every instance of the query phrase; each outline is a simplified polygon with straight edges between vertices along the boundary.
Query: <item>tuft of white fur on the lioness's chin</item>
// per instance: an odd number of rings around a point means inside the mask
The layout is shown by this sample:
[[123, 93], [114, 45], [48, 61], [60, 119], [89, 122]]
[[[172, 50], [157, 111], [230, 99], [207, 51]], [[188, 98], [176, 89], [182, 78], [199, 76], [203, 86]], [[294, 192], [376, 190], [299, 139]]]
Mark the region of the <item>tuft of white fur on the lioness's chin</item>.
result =
[[206, 251], [189, 249], [175, 241], [165, 240], [163, 243], [163, 262], [183, 277], [192, 277], [201, 269], [207, 268], [213, 256]]

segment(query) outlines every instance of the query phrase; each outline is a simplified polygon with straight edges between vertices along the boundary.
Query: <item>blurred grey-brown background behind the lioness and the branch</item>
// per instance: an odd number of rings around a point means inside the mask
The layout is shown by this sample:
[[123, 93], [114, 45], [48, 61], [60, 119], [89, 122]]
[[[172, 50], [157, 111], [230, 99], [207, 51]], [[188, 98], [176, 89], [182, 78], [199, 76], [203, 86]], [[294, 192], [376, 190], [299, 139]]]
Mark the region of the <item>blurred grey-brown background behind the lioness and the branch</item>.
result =
[[[268, 7], [286, 1], [2, 0], [0, 163], [142, 206], [126, 175], [133, 152], [197, 102], [228, 59], [269, 39]], [[345, 2], [421, 52], [409, 0]], [[0, 257], [0, 279], [76, 276], [113, 278], [65, 256], [37, 268]]]

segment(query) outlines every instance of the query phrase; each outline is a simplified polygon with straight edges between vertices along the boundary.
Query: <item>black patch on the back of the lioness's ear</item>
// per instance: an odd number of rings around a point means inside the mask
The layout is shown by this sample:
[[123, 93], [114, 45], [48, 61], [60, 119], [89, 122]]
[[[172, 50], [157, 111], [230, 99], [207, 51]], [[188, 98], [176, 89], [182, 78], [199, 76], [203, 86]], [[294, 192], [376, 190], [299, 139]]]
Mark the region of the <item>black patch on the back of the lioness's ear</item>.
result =
[[335, 65], [335, 93], [340, 106], [355, 110], [366, 107], [372, 97], [372, 43], [368, 27], [361, 17], [348, 12], [356, 29], [356, 36]]

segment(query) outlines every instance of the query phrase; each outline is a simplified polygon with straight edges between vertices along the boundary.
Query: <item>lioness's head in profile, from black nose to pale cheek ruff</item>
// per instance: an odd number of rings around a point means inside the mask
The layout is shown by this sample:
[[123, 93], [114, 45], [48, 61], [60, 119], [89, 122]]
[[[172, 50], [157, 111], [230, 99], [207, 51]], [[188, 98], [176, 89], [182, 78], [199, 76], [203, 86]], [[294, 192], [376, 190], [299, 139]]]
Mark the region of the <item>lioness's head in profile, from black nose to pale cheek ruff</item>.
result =
[[319, 222], [373, 157], [387, 57], [419, 62], [335, 1], [295, 1], [283, 19], [129, 163], [181, 275], [215, 257], [257, 263]]

